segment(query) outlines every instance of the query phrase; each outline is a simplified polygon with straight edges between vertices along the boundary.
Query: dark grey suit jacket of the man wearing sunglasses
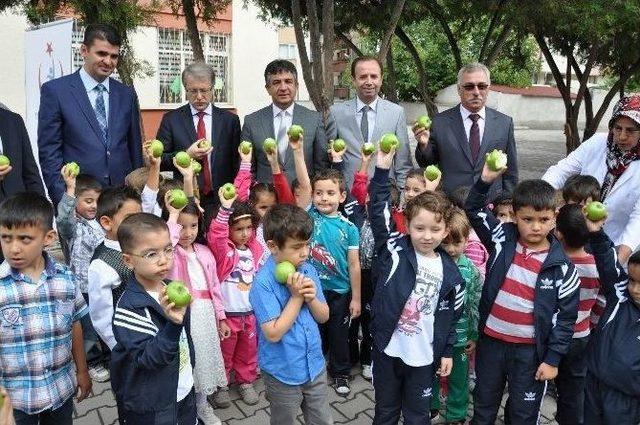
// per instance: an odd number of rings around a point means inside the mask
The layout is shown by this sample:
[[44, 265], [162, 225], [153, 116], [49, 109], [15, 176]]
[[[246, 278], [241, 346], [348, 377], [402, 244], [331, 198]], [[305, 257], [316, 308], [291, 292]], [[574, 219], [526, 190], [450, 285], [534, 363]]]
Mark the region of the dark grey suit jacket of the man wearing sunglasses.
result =
[[480, 143], [480, 153], [474, 163], [471, 147], [464, 130], [460, 105], [447, 109], [433, 117], [431, 136], [426, 149], [416, 147], [416, 161], [421, 167], [437, 164], [442, 170], [444, 191], [451, 194], [460, 186], [473, 186], [482, 173], [485, 154], [500, 149], [507, 154], [507, 171], [491, 186], [489, 200], [502, 191], [513, 192], [518, 183], [518, 156], [513, 137], [513, 119], [485, 108], [484, 135]]

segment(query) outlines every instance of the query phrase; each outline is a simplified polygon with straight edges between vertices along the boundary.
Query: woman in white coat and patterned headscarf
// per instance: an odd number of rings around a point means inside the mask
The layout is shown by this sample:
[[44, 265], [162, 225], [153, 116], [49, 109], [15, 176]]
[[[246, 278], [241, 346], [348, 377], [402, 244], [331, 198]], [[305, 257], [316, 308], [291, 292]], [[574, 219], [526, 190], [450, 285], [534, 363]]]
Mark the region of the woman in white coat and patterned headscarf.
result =
[[575, 174], [598, 179], [608, 212], [604, 230], [623, 264], [640, 245], [639, 141], [640, 95], [624, 97], [613, 108], [608, 133], [584, 141], [542, 176], [556, 189]]

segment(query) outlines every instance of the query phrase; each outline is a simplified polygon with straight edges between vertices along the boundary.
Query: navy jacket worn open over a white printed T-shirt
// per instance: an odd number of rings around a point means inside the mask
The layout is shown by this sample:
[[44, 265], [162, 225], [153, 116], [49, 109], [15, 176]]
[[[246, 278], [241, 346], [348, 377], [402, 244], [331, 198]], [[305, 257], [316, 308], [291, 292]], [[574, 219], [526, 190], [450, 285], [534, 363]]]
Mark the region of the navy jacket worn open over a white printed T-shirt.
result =
[[[369, 212], [377, 253], [373, 265], [376, 283], [371, 305], [371, 334], [376, 348], [383, 351], [413, 291], [418, 270], [409, 236], [397, 232], [391, 219], [389, 170], [376, 168], [369, 182]], [[440, 247], [436, 252], [442, 258], [443, 272], [433, 325], [433, 360], [439, 365], [441, 357], [452, 356], [455, 324], [464, 308], [465, 286], [451, 257]]]

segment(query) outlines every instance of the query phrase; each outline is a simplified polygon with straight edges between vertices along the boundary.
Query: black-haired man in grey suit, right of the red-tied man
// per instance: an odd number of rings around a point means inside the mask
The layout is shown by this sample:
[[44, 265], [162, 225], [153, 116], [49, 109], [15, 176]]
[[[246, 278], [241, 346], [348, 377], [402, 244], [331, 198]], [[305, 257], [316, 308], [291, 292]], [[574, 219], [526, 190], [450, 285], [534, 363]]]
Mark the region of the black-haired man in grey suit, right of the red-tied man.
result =
[[293, 124], [304, 129], [304, 158], [310, 173], [329, 166], [327, 137], [322, 118], [318, 112], [295, 103], [298, 91], [296, 67], [286, 60], [269, 63], [264, 71], [265, 88], [273, 103], [244, 118], [242, 140], [253, 144], [252, 171], [255, 179], [270, 183], [271, 166], [262, 149], [264, 139], [272, 137], [278, 142], [280, 168], [287, 175], [289, 183], [296, 178], [293, 152], [289, 147], [287, 130]]

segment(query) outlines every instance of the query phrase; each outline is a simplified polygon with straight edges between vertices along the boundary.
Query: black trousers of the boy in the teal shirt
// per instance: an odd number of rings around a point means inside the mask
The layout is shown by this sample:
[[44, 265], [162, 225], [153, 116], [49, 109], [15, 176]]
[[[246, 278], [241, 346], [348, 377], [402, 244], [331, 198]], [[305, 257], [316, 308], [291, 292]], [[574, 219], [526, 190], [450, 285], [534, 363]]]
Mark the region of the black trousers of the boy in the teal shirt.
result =
[[349, 376], [351, 362], [349, 361], [349, 304], [351, 292], [339, 294], [334, 291], [324, 291], [324, 297], [329, 306], [329, 320], [320, 327], [322, 335], [322, 350], [329, 355], [327, 371], [332, 377]]

